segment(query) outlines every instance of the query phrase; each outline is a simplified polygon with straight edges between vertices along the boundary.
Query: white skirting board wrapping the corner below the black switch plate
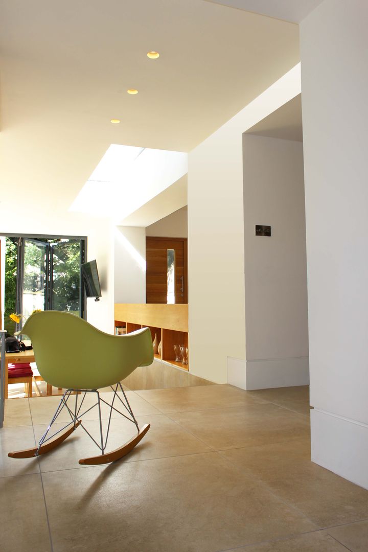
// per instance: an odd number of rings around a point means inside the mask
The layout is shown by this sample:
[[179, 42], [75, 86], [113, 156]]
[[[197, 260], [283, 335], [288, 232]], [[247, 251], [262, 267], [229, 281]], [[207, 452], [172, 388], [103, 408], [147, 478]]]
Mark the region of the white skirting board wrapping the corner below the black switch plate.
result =
[[248, 391], [309, 384], [309, 358], [242, 360], [227, 357], [227, 383]]

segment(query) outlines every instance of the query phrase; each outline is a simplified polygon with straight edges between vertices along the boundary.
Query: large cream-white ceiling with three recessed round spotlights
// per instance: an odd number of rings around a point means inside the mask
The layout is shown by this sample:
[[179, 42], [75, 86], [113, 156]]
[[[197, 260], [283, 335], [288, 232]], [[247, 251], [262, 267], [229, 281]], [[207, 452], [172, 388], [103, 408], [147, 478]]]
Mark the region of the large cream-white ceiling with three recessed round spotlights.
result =
[[205, 0], [2, 10], [0, 208], [26, 191], [34, 216], [64, 213], [110, 144], [190, 151], [299, 60], [297, 25]]

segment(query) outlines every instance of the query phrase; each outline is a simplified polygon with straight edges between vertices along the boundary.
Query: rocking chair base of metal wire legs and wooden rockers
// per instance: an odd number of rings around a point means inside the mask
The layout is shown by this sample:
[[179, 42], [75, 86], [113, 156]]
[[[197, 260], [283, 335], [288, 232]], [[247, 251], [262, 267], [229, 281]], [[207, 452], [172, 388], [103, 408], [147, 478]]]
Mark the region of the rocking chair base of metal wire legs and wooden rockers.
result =
[[[98, 456], [91, 457], [91, 458], [83, 458], [79, 460], [79, 464], [106, 464], [106, 463], [118, 460], [119, 458], [125, 456], [125, 454], [129, 453], [130, 450], [132, 450], [136, 446], [136, 444], [140, 442], [140, 440], [145, 436], [148, 429], [150, 429], [150, 424], [146, 424], [144, 427], [142, 427], [141, 430], [139, 429], [138, 423], [134, 417], [129, 401], [127, 400], [126, 394], [120, 382], [116, 384], [115, 389], [112, 386], [111, 386], [111, 389], [114, 391], [111, 404], [105, 401], [104, 399], [102, 399], [102, 397], [99, 394], [99, 391], [97, 391], [96, 389], [67, 389], [65, 393], [62, 395], [60, 403], [56, 408], [55, 414], [52, 417], [52, 420], [49, 426], [47, 427], [45, 433], [42, 435], [39, 441], [38, 447], [25, 449], [25, 450], [18, 450], [17, 452], [10, 452], [8, 453], [8, 456], [10, 458], [31, 458], [31, 457], [37, 457], [40, 454], [45, 454], [50, 450], [56, 448], [59, 444], [61, 444], [67, 437], [69, 437], [77, 429], [78, 426], [81, 426], [84, 429], [84, 431], [89, 435], [89, 437], [100, 449], [100, 454]], [[123, 398], [121, 398], [120, 395], [118, 395], [119, 389], [122, 392]], [[76, 393], [74, 395], [73, 394], [74, 392], [81, 392], [81, 394]], [[95, 402], [92, 406], [87, 408], [87, 410], [83, 410], [84, 399], [86, 399], [87, 393], [95, 393], [97, 402]], [[74, 404], [71, 397], [75, 397]], [[78, 405], [78, 397], [80, 399], [79, 405]], [[118, 399], [118, 401], [116, 401], [115, 403], [116, 399]], [[114, 406], [115, 404], [121, 408], [120, 403], [122, 404], [122, 406], [124, 406], [127, 414], [124, 412], [121, 412], [120, 410], [118, 410], [118, 408]], [[105, 438], [104, 438], [102, 414], [101, 414], [102, 404], [105, 404], [110, 408], [107, 429], [105, 432]], [[94, 437], [92, 437], [92, 435], [89, 433], [89, 431], [86, 429], [86, 427], [84, 427], [82, 423], [83, 416], [86, 415], [87, 412], [89, 412], [90, 410], [92, 410], [92, 408], [95, 408], [96, 406], [98, 407], [98, 417], [99, 417], [99, 433], [100, 433], [99, 442]], [[51, 432], [52, 434], [50, 435], [50, 430], [53, 424], [56, 422], [58, 416], [60, 416], [60, 413], [64, 408], [69, 413], [71, 417], [71, 421], [68, 422], [65, 426], [63, 426], [58, 431], [54, 433]], [[113, 414], [113, 411], [118, 412], [121, 416], [123, 416], [130, 422], [134, 423], [137, 428], [138, 434], [132, 439], [130, 439], [127, 443], [119, 447], [118, 449], [115, 449], [110, 453], [106, 453], [105, 450], [108, 442], [111, 416]]]

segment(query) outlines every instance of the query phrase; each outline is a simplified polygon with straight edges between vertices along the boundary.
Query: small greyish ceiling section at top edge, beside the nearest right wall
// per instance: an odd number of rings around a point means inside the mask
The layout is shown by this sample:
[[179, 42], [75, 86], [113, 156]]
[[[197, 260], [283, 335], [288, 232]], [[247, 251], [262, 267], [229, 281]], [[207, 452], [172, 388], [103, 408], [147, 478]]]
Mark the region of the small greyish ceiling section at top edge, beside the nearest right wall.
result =
[[207, 0], [207, 2], [300, 23], [323, 0]]

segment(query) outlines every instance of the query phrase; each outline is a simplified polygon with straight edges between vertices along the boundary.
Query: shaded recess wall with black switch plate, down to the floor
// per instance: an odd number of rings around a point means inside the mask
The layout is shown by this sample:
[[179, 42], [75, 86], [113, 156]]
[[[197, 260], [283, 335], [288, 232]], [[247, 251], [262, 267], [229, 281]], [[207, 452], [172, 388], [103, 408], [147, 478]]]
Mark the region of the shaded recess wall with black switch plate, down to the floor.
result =
[[[243, 178], [246, 388], [306, 385], [302, 143], [244, 134]], [[255, 236], [256, 224], [270, 225], [271, 237]]]

